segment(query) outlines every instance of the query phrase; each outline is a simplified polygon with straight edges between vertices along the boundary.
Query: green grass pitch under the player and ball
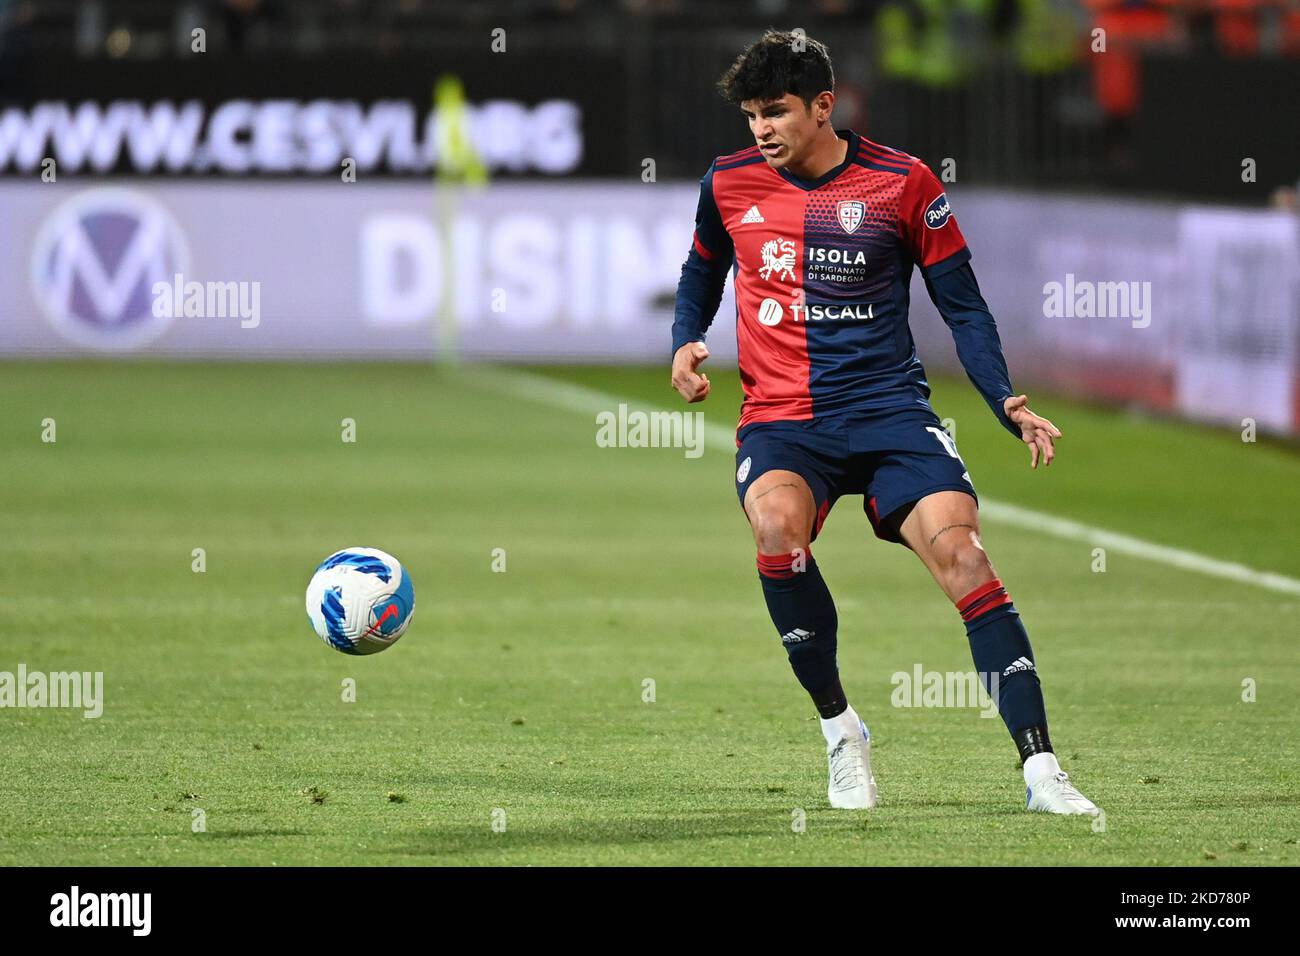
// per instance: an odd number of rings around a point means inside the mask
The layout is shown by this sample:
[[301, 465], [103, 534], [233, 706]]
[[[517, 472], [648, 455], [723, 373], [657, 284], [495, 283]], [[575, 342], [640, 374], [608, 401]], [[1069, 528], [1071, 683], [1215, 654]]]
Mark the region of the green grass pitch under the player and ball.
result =
[[[98, 719], [0, 710], [0, 864], [1300, 861], [1300, 597], [1117, 551], [1095, 572], [1087, 542], [987, 522], [1098, 832], [1024, 810], [998, 719], [890, 706], [896, 671], [968, 670], [966, 637], [845, 499], [816, 554], [881, 805], [832, 812], [732, 457], [598, 447], [590, 415], [499, 375], [0, 367], [0, 671], [105, 682]], [[682, 407], [667, 368], [533, 375]], [[732, 427], [736, 375], [712, 378], [692, 411]], [[1300, 576], [1294, 446], [1031, 393], [1065, 432], [1031, 472], [965, 381], [935, 398], [989, 498]], [[415, 580], [376, 657], [303, 611], [347, 545]]]

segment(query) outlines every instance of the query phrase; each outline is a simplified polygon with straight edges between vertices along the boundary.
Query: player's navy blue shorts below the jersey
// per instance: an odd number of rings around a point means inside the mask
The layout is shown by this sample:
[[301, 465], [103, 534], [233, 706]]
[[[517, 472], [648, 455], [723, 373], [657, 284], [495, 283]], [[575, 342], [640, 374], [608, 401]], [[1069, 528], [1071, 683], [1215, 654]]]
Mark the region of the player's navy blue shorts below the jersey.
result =
[[902, 544], [896, 522], [898, 509], [935, 492], [966, 492], [975, 498], [970, 472], [957, 445], [924, 408], [893, 410], [874, 415], [811, 419], [809, 421], [755, 421], [737, 436], [736, 494], [763, 472], [793, 471], [807, 481], [816, 501], [816, 538], [835, 502], [861, 494], [876, 537]]

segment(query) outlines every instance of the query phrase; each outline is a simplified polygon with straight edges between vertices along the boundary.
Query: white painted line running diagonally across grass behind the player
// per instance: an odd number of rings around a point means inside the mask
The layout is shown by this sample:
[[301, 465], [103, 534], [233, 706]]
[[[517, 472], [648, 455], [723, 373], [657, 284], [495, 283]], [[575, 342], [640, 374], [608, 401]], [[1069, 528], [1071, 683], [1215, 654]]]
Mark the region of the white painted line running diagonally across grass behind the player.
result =
[[[478, 367], [472, 371], [476, 380], [489, 382], [499, 392], [519, 395], [529, 402], [549, 405], [552, 408], [595, 415], [601, 411], [614, 411], [620, 403], [629, 407], [636, 406], [644, 411], [668, 411], [658, 406], [649, 406], [644, 402], [629, 398], [619, 398], [606, 392], [589, 389], [585, 385], [560, 382], [529, 372], [506, 369], [500, 367]], [[664, 371], [664, 390], [668, 389], [668, 373]], [[677, 408], [684, 411], [688, 408]], [[689, 408], [690, 411], [698, 411]], [[705, 442], [715, 450], [727, 454], [736, 453], [736, 432], [718, 424], [705, 424]], [[1057, 518], [1043, 511], [1034, 511], [1019, 505], [1010, 505], [1005, 501], [996, 501], [980, 496], [979, 511], [982, 518], [992, 519], [996, 523], [1009, 524], [1024, 531], [1063, 538], [1066, 541], [1086, 541], [1098, 548], [1106, 548], [1119, 554], [1134, 558], [1154, 561], [1170, 567], [1197, 574], [1222, 578], [1242, 584], [1253, 584], [1258, 588], [1277, 591], [1283, 594], [1300, 594], [1300, 580], [1287, 578], [1274, 571], [1258, 571], [1245, 564], [1231, 561], [1219, 561], [1206, 554], [1188, 551], [1182, 548], [1169, 548], [1153, 541], [1143, 541], [1131, 535], [1122, 535], [1117, 531], [1098, 528], [1091, 524], [1072, 522], [1069, 518]]]

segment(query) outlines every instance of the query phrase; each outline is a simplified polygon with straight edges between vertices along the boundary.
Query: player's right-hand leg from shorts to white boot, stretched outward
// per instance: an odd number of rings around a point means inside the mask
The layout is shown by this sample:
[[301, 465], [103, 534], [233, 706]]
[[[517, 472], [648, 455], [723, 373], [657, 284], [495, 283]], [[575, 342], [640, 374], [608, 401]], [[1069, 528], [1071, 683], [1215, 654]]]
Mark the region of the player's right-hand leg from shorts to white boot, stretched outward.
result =
[[997, 702], [1024, 763], [1026, 804], [1032, 810], [1096, 814], [1070, 783], [1048, 737], [1043, 689], [1028, 635], [980, 544], [975, 499], [936, 492], [896, 515], [898, 535], [933, 575], [966, 622], [980, 680]]

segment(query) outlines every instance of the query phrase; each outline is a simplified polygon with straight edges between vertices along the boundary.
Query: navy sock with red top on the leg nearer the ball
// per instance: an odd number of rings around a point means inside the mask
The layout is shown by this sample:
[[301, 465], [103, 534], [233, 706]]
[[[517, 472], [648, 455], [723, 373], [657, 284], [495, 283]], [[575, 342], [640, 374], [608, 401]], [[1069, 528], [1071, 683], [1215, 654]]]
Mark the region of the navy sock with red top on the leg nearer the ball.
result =
[[838, 717], [849, 706], [836, 662], [840, 622], [812, 554], [759, 554], [758, 578], [794, 676], [823, 718]]

